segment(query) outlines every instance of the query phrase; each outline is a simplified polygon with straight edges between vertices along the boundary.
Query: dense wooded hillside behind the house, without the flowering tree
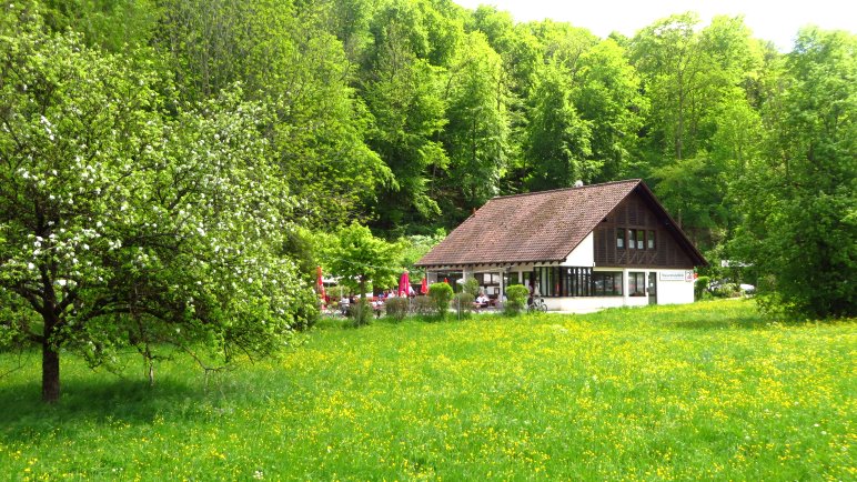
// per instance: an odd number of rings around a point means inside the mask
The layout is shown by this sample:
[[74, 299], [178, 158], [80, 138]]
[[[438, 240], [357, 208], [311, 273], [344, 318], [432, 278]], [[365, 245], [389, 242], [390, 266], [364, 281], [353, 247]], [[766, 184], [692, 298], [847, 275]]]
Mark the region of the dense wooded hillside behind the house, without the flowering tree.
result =
[[184, 101], [242, 82], [271, 107], [293, 215], [392, 237], [452, 228], [498, 193], [643, 177], [713, 248], [740, 222], [729, 184], [765, 157], [762, 134], [792, 96], [783, 86], [799, 73], [784, 62], [841, 70], [854, 58], [813, 57], [805, 46], [825, 32], [782, 54], [739, 17], [702, 26], [692, 12], [598, 39], [447, 0], [31, 4], [51, 29], [145, 59]]

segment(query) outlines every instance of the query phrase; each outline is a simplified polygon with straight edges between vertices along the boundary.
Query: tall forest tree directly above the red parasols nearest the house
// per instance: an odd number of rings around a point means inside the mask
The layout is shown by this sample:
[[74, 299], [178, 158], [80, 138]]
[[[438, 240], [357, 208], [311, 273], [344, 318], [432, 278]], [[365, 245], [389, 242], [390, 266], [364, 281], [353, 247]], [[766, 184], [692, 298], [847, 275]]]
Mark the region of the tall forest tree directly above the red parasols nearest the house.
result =
[[391, 2], [373, 19], [371, 32], [373, 46], [361, 73], [361, 92], [374, 119], [367, 142], [393, 173], [379, 190], [375, 224], [397, 231], [440, 214], [427, 178], [448, 162], [438, 141], [446, 123], [444, 69], [428, 60], [428, 31], [416, 6]]

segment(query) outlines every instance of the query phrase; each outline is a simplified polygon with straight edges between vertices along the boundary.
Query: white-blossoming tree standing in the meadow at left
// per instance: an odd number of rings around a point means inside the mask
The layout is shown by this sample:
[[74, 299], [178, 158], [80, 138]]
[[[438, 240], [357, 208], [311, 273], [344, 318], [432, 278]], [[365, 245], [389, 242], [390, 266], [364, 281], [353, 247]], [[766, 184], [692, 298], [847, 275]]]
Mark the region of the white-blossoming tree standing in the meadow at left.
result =
[[41, 345], [43, 400], [60, 348], [135, 347], [151, 380], [163, 343], [203, 363], [282, 347], [312, 293], [273, 251], [289, 198], [264, 112], [233, 93], [167, 116], [163, 79], [22, 30], [0, 38], [0, 343]]

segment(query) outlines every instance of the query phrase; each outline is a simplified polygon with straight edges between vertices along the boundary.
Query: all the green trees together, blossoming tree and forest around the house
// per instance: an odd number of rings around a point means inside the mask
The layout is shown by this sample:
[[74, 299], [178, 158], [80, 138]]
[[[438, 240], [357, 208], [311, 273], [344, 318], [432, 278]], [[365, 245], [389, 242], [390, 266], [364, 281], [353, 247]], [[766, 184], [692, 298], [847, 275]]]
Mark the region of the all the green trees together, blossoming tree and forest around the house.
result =
[[97, 362], [183, 320], [264, 353], [312, 319], [336, 233], [401, 267], [492, 197], [629, 178], [760, 304], [855, 314], [854, 32], [780, 52], [693, 12], [598, 38], [451, 0], [0, 9], [0, 343]]

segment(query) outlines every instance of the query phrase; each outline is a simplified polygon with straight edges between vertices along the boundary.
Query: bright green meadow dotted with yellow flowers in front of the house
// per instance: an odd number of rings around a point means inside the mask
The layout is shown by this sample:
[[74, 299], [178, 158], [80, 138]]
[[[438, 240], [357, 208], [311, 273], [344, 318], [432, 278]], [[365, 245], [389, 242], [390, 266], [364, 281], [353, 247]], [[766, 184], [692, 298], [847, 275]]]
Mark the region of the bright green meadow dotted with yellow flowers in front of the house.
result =
[[402, 323], [325, 320], [276, 360], [149, 388], [0, 354], [4, 480], [855, 480], [854, 320], [753, 301]]

